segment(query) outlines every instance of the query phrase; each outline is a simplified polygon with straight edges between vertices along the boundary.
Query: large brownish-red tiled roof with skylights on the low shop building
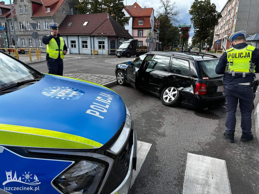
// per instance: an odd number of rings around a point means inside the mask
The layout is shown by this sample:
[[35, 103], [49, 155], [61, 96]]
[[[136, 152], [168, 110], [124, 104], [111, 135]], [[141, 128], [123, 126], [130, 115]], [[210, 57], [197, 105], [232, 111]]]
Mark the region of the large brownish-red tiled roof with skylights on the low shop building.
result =
[[[103, 31], [104, 36], [132, 38], [118, 21], [110, 15], [109, 18], [107, 16], [107, 13], [67, 15], [59, 25], [59, 33], [62, 35], [101, 36]], [[82, 26], [85, 21], [88, 21], [88, 24]], [[73, 24], [68, 27], [67, 25], [70, 22], [73, 22]]]

